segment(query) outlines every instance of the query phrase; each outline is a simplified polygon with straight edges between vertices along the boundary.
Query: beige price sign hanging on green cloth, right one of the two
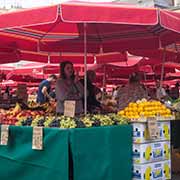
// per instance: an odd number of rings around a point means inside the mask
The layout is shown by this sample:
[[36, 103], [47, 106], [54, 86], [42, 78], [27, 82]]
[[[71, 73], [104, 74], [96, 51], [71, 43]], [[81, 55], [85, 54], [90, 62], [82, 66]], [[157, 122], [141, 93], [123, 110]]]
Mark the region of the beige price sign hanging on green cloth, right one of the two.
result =
[[32, 149], [36, 149], [36, 150], [43, 149], [43, 128], [42, 127], [33, 128]]

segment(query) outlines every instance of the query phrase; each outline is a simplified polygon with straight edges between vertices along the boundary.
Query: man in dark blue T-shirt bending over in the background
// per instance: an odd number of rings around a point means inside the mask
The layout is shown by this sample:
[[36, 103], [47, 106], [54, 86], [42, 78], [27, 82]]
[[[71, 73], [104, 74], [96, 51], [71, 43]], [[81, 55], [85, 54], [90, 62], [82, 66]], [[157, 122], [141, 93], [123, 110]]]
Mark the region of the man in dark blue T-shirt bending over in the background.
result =
[[57, 76], [52, 74], [39, 84], [38, 93], [37, 93], [37, 103], [43, 104], [48, 101], [54, 100], [49, 94], [51, 92], [51, 84], [55, 83], [56, 80], [57, 80]]

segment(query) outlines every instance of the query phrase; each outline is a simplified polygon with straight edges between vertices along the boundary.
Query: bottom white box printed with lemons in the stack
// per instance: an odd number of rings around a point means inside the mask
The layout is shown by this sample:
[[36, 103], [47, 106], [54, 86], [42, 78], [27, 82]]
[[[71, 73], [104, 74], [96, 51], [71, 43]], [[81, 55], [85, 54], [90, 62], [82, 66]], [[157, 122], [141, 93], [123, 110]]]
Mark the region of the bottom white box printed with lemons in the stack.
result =
[[171, 179], [171, 161], [134, 165], [132, 176], [133, 180], [169, 180]]

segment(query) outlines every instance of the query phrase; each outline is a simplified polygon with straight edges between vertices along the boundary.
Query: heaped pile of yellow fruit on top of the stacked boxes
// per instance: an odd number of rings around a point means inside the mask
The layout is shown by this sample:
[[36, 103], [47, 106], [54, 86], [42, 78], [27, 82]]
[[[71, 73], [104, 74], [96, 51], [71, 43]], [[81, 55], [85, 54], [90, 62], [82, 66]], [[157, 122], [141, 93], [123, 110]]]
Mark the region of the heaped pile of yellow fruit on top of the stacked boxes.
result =
[[159, 101], [147, 101], [146, 99], [129, 103], [128, 107], [118, 112], [119, 115], [129, 118], [138, 119], [140, 117], [171, 117], [171, 110]]

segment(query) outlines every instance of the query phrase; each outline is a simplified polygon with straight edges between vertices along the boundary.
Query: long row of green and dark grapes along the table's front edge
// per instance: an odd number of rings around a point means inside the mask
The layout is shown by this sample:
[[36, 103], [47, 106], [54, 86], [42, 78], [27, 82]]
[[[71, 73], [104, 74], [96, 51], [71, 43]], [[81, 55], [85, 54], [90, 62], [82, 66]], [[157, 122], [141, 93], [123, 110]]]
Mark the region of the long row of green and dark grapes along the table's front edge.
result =
[[[56, 127], [56, 128], [90, 128], [98, 126], [111, 126], [127, 124], [128, 119], [117, 114], [96, 114], [86, 115], [80, 118], [71, 118], [66, 116], [44, 116], [43, 113], [36, 113], [34, 116], [29, 114], [30, 111], [22, 111], [18, 115], [17, 126], [41, 126], [41, 127]], [[34, 112], [35, 113], [35, 112]]]

